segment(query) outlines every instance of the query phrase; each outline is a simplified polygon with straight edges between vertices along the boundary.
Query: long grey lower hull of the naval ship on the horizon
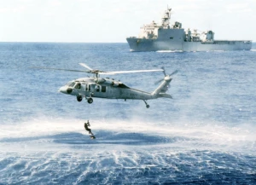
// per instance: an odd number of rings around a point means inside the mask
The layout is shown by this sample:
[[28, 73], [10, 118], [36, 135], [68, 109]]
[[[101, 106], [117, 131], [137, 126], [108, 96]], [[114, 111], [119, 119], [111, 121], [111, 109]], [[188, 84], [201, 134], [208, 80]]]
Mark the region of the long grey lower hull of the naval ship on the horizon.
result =
[[185, 42], [185, 41], [161, 41], [158, 39], [126, 38], [131, 51], [211, 51], [211, 50], [250, 50], [250, 41], [222, 41], [215, 40], [207, 42]]

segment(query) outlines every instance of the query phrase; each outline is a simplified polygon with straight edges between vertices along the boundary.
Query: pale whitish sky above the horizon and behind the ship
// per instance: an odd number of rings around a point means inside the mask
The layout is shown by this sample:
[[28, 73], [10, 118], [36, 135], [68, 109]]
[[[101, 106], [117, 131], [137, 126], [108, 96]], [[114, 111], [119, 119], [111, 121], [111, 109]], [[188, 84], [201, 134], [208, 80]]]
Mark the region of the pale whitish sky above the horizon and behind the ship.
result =
[[256, 0], [0, 0], [0, 42], [125, 43], [160, 23], [256, 42]]

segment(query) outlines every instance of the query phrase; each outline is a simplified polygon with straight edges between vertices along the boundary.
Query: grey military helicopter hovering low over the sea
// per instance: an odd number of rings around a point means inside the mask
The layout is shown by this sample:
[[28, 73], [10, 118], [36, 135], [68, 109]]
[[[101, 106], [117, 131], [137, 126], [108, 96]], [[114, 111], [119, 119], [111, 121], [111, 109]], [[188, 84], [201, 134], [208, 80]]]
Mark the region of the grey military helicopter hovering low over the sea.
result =
[[[93, 98], [106, 98], [106, 99], [123, 99], [123, 100], [143, 100], [146, 107], [149, 108], [147, 103], [148, 100], [157, 98], [172, 98], [172, 95], [166, 94], [169, 84], [172, 81], [171, 76], [177, 72], [167, 75], [165, 68], [153, 69], [153, 70], [135, 70], [135, 71], [116, 71], [116, 72], [105, 72], [98, 69], [92, 69], [84, 63], [79, 63], [84, 66], [88, 71], [84, 70], [70, 70], [70, 69], [59, 69], [59, 68], [46, 68], [46, 67], [33, 67], [43, 68], [52, 70], [61, 70], [69, 72], [87, 72], [94, 74], [93, 77], [88, 78], [77, 78], [75, 80], [67, 82], [58, 91], [66, 95], [75, 95], [77, 101], [82, 101], [83, 98], [88, 102], [92, 103]], [[153, 91], [146, 92], [143, 90], [136, 90], [128, 87], [120, 81], [114, 80], [113, 78], [101, 78], [100, 75], [113, 75], [118, 73], [131, 73], [131, 72], [163, 72], [165, 77], [159, 82], [161, 84]], [[158, 82], [158, 83], [159, 83]]]

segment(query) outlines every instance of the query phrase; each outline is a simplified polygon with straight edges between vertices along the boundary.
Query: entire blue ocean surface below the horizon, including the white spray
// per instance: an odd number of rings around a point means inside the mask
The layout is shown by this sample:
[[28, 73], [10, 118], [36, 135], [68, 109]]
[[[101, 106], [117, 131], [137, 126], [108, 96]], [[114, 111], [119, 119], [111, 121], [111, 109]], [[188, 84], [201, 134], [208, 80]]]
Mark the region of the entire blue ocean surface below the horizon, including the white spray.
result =
[[[0, 43], [0, 184], [256, 184], [256, 46], [130, 52], [127, 43]], [[92, 104], [58, 92], [84, 70], [155, 69], [173, 99]], [[162, 72], [111, 76], [153, 91]], [[90, 140], [84, 122], [96, 140]]]

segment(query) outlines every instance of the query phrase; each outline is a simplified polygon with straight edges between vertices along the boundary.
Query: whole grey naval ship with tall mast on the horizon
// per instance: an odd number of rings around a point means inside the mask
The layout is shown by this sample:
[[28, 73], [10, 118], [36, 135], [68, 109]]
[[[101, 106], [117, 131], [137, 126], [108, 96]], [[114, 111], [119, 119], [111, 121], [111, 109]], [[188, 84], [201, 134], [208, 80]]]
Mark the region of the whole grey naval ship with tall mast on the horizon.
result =
[[161, 24], [154, 21], [141, 27], [138, 37], [126, 38], [131, 51], [210, 51], [210, 50], [250, 50], [251, 40], [215, 40], [214, 32], [192, 32], [184, 30], [182, 23], [170, 26], [171, 10], [167, 8]]

